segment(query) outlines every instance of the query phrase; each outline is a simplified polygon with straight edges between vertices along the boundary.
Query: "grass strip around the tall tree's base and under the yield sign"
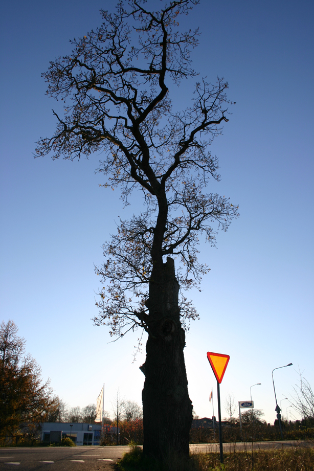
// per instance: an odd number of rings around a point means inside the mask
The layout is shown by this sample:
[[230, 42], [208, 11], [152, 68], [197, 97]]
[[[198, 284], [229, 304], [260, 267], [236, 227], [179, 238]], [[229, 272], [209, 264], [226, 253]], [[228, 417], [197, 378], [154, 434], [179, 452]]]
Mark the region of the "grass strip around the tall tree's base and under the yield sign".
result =
[[[170, 462], [171, 461], [171, 462]], [[259, 450], [224, 454], [220, 464], [219, 453], [191, 455], [189, 460], [172, 457], [159, 463], [142, 455], [139, 447], [124, 455], [117, 463], [119, 471], [314, 471], [313, 448], [289, 448], [288, 450]]]

